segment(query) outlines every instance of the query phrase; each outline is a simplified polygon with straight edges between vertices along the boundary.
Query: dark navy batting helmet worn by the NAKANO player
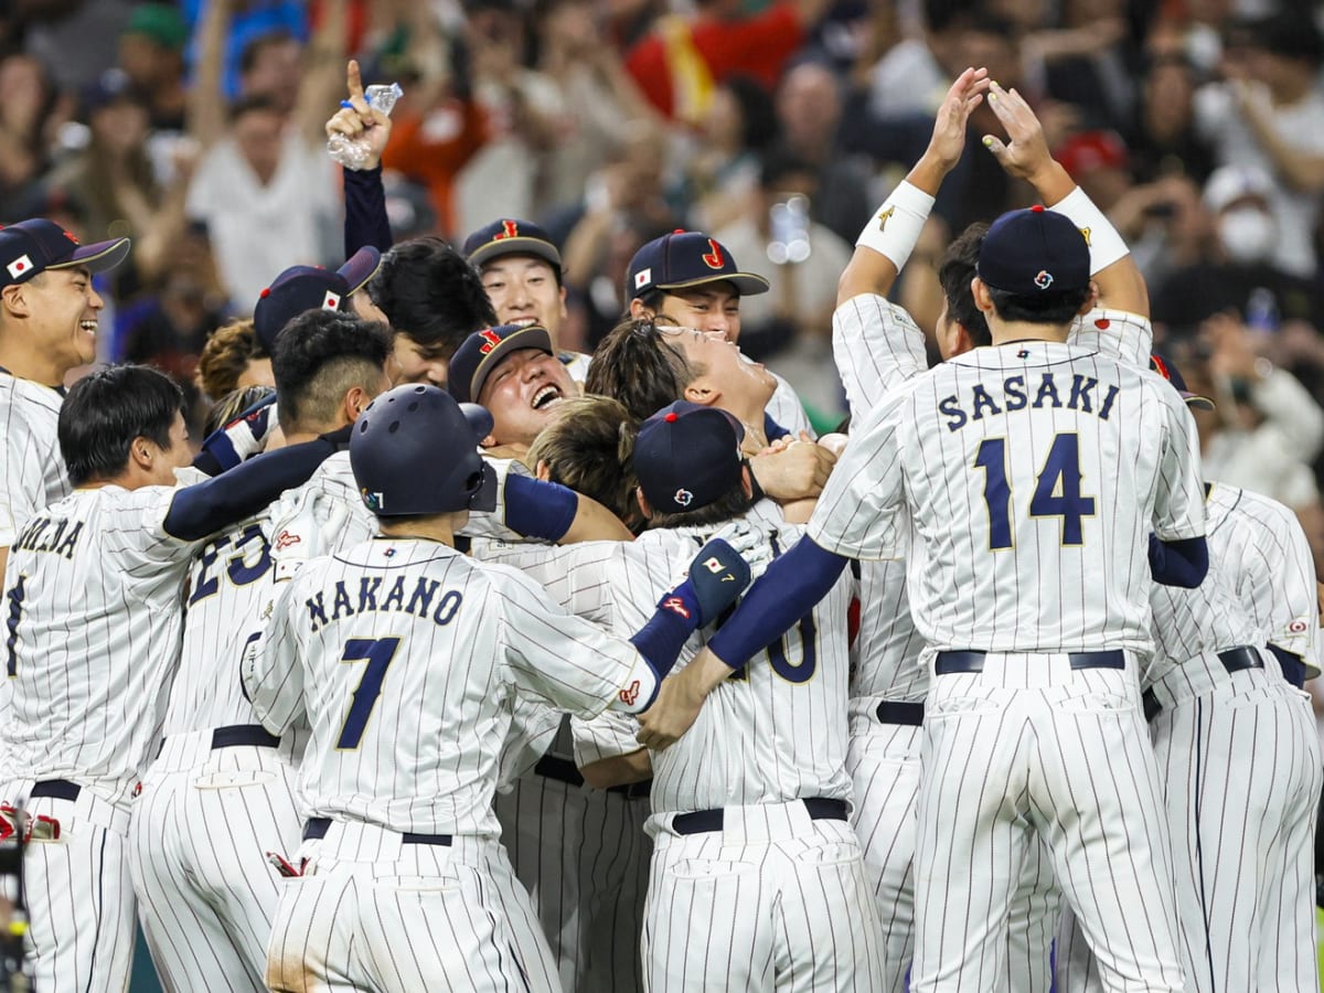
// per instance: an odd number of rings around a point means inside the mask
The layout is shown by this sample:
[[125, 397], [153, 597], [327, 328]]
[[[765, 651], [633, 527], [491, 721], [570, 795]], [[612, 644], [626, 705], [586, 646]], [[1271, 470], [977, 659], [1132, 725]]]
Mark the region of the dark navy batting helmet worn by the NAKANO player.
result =
[[417, 384], [368, 404], [350, 437], [350, 465], [379, 518], [469, 510], [486, 474], [459, 405], [444, 389]]

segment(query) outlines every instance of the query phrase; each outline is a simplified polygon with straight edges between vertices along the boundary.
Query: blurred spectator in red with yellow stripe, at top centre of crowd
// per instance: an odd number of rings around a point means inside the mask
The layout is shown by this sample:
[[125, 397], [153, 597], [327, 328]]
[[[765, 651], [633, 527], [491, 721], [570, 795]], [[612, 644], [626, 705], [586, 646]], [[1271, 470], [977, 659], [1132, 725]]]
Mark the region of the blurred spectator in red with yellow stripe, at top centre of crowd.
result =
[[826, 7], [826, 0], [775, 0], [751, 16], [739, 0], [698, 0], [692, 17], [659, 17], [625, 65], [654, 107], [696, 124], [715, 82], [739, 73], [773, 86]]

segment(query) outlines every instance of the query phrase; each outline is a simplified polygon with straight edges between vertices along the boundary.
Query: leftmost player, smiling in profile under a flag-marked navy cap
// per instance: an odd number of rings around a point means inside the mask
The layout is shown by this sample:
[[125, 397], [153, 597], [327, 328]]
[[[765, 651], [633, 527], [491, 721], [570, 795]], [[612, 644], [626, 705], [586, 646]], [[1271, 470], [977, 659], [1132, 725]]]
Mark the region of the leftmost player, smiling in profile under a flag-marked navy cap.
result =
[[128, 248], [128, 238], [79, 245], [42, 218], [0, 229], [0, 567], [28, 518], [69, 495], [56, 440], [65, 376], [97, 357], [105, 303], [91, 277]]

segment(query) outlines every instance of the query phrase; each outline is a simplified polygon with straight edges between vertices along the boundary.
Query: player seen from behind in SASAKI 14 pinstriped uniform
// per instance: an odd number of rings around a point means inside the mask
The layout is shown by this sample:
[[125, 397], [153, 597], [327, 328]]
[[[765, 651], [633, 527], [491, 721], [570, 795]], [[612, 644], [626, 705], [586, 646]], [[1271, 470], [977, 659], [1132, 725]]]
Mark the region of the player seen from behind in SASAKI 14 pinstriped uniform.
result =
[[[1149, 643], [1151, 522], [1157, 580], [1193, 587], [1207, 568], [1197, 449], [1180, 397], [1152, 373], [1064, 344], [1092, 302], [1090, 267], [1062, 214], [1021, 211], [989, 229], [972, 290], [994, 347], [915, 377], [870, 414], [820, 499], [812, 542], [769, 568], [678, 678], [695, 675], [642, 722], [641, 740], [682, 732], [724, 677], [720, 659], [741, 663], [767, 639], [748, 618], [785, 593], [794, 609], [812, 602], [839, 572], [829, 552], [887, 557], [912, 538], [912, 616], [933, 677], [916, 990], [996, 982], [1002, 922], [1039, 839], [1107, 981], [1182, 982], [1136, 666]], [[1091, 776], [1100, 769], [1119, 772]], [[1082, 777], [1088, 796], [1074, 790]], [[1120, 907], [1125, 916], [1110, 910]]]

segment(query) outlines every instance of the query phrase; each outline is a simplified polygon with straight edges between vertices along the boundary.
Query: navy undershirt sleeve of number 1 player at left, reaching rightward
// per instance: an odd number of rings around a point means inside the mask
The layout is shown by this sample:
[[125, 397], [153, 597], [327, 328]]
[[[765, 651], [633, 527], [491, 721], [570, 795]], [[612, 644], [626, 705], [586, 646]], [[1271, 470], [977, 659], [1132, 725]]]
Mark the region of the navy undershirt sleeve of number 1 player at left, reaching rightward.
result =
[[302, 486], [336, 445], [324, 438], [269, 451], [213, 479], [185, 486], [166, 514], [166, 532], [200, 542], [250, 518], [286, 490]]

